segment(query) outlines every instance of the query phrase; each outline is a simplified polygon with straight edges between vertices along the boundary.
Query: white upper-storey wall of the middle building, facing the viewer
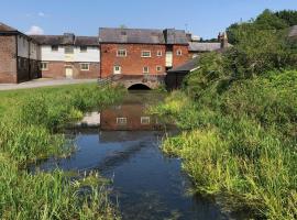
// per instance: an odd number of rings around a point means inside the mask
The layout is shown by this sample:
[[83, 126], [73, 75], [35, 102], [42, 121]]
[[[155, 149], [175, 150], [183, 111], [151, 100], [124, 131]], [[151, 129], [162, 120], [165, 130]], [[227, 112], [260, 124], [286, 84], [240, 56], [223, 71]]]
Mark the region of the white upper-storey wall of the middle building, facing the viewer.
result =
[[41, 46], [41, 59], [46, 62], [100, 62], [98, 46], [88, 46], [87, 52], [80, 53], [80, 47], [74, 47], [74, 54], [65, 54], [64, 46], [58, 46], [57, 52], [52, 52], [52, 46]]

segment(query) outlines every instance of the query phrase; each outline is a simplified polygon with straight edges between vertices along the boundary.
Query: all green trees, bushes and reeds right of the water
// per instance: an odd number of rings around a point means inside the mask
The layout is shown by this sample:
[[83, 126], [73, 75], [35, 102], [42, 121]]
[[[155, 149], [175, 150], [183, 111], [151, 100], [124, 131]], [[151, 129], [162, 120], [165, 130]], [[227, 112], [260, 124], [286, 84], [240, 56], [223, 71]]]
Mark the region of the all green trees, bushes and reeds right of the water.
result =
[[197, 191], [255, 217], [296, 219], [296, 42], [257, 20], [245, 25], [231, 26], [234, 46], [202, 55], [184, 88], [151, 112], [184, 130], [163, 150], [183, 158]]

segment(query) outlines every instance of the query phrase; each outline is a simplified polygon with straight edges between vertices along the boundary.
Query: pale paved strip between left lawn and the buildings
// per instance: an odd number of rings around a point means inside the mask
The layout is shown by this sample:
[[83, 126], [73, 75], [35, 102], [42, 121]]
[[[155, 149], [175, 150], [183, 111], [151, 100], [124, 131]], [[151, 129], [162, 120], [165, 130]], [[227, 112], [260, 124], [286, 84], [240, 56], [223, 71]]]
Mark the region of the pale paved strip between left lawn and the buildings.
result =
[[22, 84], [0, 84], [1, 90], [14, 90], [14, 89], [29, 89], [38, 88], [47, 86], [62, 86], [62, 85], [73, 85], [73, 84], [88, 84], [96, 82], [97, 79], [35, 79], [31, 81], [25, 81]]

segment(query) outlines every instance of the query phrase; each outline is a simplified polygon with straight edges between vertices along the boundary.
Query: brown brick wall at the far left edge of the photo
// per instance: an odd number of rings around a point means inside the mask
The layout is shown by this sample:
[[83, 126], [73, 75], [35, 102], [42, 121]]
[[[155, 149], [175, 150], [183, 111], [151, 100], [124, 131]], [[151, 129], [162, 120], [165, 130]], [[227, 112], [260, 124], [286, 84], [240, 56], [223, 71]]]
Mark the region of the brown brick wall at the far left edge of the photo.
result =
[[0, 84], [15, 84], [16, 46], [15, 36], [0, 36]]

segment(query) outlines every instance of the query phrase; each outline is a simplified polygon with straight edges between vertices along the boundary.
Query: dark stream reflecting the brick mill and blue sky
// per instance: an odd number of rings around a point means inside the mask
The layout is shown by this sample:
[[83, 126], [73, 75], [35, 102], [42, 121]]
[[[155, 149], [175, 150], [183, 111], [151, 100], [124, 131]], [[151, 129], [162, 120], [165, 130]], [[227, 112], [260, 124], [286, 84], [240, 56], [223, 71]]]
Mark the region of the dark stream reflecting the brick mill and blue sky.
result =
[[161, 152], [164, 127], [145, 113], [147, 105], [160, 100], [152, 92], [130, 94], [121, 105], [100, 112], [99, 129], [70, 132], [78, 147], [75, 154], [48, 160], [40, 168], [99, 170], [113, 179], [111, 200], [127, 220], [229, 219], [212, 199], [189, 194], [191, 185], [180, 169], [180, 160]]

